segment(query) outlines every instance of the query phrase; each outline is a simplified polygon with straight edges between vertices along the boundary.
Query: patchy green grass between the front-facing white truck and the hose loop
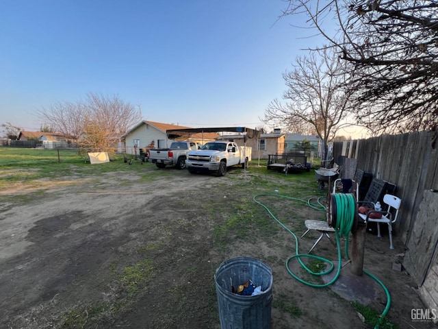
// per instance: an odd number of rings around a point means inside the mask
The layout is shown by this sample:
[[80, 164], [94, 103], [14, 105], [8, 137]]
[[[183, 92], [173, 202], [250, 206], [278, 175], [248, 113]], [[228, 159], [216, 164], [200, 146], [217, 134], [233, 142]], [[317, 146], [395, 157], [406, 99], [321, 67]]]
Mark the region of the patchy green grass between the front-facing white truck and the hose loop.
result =
[[[310, 176], [314, 178], [313, 172], [285, 176], [276, 171], [268, 171], [266, 167], [252, 167], [248, 171], [250, 172], [231, 178], [239, 185], [237, 194], [226, 195], [224, 191], [227, 190], [218, 188], [218, 193], [211, 191], [218, 195], [216, 202], [202, 204], [203, 210], [211, 217], [219, 217], [214, 226], [213, 236], [214, 246], [220, 250], [224, 250], [236, 239], [248, 239], [248, 236], [258, 238], [261, 234], [263, 239], [270, 239], [272, 234], [281, 230], [281, 226], [270, 217], [266, 209], [254, 202], [255, 195], [268, 194], [262, 195], [257, 200], [263, 202], [281, 223], [289, 226], [292, 220], [294, 224], [292, 228], [299, 232], [304, 230], [304, 220], [308, 218], [307, 215], [303, 217], [302, 209], [309, 207], [307, 204], [309, 195], [312, 195], [313, 201], [324, 196], [324, 193], [318, 190], [316, 182], [301, 184], [305, 178]], [[260, 177], [255, 173], [262, 173], [263, 176]], [[279, 193], [274, 193], [277, 189]], [[281, 191], [285, 192], [286, 198], [269, 195], [281, 195]], [[222, 195], [224, 195], [223, 199]], [[287, 198], [289, 195], [298, 200]], [[310, 211], [310, 213], [315, 212], [315, 216], [320, 215], [317, 210]]]

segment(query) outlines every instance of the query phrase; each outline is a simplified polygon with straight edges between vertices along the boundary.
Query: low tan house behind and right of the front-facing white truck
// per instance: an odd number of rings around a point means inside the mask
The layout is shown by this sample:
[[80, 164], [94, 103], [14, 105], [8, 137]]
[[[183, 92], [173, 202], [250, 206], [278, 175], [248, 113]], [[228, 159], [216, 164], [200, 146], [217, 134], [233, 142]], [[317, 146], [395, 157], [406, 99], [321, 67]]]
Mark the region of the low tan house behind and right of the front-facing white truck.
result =
[[[239, 146], [252, 147], [252, 160], [267, 159], [270, 154], [283, 154], [285, 151], [285, 134], [280, 130], [274, 130], [272, 134], [261, 134], [260, 138], [244, 138], [243, 135], [223, 135], [216, 139], [220, 141], [232, 141]], [[246, 139], [246, 141], [244, 141]]]

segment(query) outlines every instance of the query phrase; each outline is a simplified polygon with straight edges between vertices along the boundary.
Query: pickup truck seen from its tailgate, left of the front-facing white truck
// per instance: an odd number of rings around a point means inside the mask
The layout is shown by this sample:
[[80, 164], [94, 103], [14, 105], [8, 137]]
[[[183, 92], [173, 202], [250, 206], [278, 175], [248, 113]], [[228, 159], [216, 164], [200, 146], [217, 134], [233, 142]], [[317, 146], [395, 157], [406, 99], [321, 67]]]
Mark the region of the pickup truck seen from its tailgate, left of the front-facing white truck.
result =
[[173, 165], [177, 169], [184, 169], [188, 152], [201, 149], [201, 146], [201, 144], [192, 141], [175, 141], [170, 144], [168, 149], [150, 149], [149, 161], [155, 163], [158, 168]]

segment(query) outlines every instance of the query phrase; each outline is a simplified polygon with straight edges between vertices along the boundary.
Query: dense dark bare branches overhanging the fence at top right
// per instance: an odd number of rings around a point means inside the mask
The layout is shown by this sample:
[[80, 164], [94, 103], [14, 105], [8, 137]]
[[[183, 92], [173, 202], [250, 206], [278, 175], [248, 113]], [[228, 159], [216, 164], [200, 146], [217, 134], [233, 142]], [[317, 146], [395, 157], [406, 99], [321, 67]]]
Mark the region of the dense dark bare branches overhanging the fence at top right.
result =
[[[350, 63], [350, 110], [373, 132], [438, 125], [438, 1], [288, 0]], [[337, 29], [333, 31], [333, 22]]]

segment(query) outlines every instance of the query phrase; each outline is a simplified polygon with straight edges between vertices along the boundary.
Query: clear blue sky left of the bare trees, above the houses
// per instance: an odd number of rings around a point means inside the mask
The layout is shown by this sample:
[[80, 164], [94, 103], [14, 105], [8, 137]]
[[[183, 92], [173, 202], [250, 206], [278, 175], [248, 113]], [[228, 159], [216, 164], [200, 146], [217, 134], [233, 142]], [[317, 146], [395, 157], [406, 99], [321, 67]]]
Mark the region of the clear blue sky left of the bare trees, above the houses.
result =
[[[322, 38], [281, 0], [2, 0], [0, 124], [87, 93], [190, 127], [260, 125], [282, 73]], [[302, 21], [300, 21], [302, 20]]]

